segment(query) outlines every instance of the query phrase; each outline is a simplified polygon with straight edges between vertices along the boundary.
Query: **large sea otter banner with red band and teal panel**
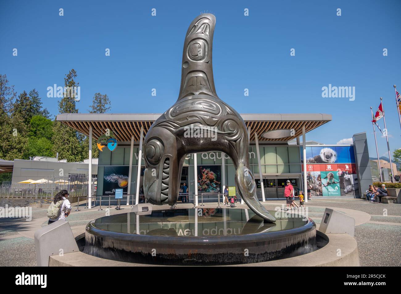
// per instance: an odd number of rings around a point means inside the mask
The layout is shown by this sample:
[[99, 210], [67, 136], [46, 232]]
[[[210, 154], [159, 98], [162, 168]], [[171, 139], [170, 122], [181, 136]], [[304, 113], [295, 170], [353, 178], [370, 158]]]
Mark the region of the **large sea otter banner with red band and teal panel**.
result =
[[360, 195], [353, 146], [306, 147], [306, 171], [312, 196]]

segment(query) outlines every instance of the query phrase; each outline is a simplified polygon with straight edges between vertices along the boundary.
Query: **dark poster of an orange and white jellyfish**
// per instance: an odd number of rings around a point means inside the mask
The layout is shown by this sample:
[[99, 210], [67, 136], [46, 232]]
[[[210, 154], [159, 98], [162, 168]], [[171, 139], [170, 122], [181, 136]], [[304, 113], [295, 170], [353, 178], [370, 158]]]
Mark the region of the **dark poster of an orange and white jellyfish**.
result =
[[128, 166], [105, 166], [103, 175], [103, 195], [115, 195], [115, 189], [128, 193]]

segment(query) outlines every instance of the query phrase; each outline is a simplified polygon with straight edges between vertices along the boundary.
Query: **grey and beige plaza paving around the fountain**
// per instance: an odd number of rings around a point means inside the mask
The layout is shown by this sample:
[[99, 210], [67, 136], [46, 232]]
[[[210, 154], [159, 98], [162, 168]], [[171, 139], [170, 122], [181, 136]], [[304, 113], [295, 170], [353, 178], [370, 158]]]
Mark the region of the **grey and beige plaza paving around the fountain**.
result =
[[[299, 201], [297, 201], [299, 203]], [[76, 205], [76, 204], [75, 204]], [[284, 207], [285, 201], [266, 201], [263, 205], [269, 210]], [[220, 204], [223, 207], [222, 204]], [[376, 204], [363, 199], [344, 199], [314, 197], [305, 203], [308, 207], [308, 217], [320, 224], [325, 207], [342, 211], [355, 219], [355, 236], [361, 266], [401, 266], [401, 204]], [[91, 220], [104, 216], [99, 206], [81, 211], [73, 210], [67, 220], [74, 236], [84, 232], [85, 226]], [[110, 215], [127, 213], [131, 207], [122, 205], [121, 210], [109, 208]], [[160, 206], [168, 208], [168, 205]], [[190, 208], [193, 204], [177, 203], [177, 208]], [[205, 203], [202, 208], [217, 207], [216, 203]], [[237, 208], [246, 208], [238, 203]], [[159, 207], [157, 207], [159, 208]], [[236, 209], [236, 208], [230, 208]], [[45, 208], [32, 208], [32, 220], [0, 218], [0, 266], [36, 266], [34, 232], [47, 225]]]

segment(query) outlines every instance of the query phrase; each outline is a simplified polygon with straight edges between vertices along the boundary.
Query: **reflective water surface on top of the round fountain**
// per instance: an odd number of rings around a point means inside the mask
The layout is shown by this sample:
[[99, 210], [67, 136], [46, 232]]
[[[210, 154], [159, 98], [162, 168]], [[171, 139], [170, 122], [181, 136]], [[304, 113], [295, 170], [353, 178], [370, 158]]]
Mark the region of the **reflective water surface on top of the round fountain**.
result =
[[301, 215], [280, 217], [274, 224], [263, 222], [250, 209], [189, 208], [154, 210], [150, 215], [122, 213], [100, 217], [93, 227], [108, 232], [149, 236], [205, 237], [237, 236], [300, 228], [308, 223]]

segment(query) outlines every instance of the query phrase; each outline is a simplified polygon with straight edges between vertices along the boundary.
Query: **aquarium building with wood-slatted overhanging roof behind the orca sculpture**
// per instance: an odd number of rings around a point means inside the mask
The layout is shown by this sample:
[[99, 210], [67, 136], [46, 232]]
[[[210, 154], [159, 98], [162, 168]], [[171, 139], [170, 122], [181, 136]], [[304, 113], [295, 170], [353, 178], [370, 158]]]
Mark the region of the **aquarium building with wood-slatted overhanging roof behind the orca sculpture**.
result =
[[[142, 159], [138, 158], [141, 132], [146, 136], [160, 115], [65, 113], [58, 115], [57, 121], [95, 141], [107, 130], [112, 130], [117, 147], [113, 151], [107, 147], [99, 151], [96, 193], [97, 196], [113, 195], [115, 189], [124, 186], [126, 199], [126, 195], [136, 194], [137, 186], [142, 185], [143, 153]], [[352, 145], [322, 145], [313, 141], [307, 144], [306, 133], [325, 127], [323, 125], [331, 121], [331, 115], [255, 113], [241, 114], [241, 117], [248, 129], [249, 163], [261, 200], [284, 198], [288, 179], [296, 191], [307, 189], [312, 196], [359, 197], [360, 191], [365, 191], [371, 184], [366, 133], [355, 134]], [[141, 174], [138, 177], [139, 163]], [[206, 193], [222, 191], [223, 185], [235, 186], [235, 169], [227, 155], [197, 153], [195, 160], [194, 154], [189, 154], [182, 169], [181, 183], [186, 183], [190, 194], [195, 192], [195, 174], [200, 181], [205, 171], [214, 173], [215, 182], [202, 183], [198, 197], [204, 193], [207, 199]]]

